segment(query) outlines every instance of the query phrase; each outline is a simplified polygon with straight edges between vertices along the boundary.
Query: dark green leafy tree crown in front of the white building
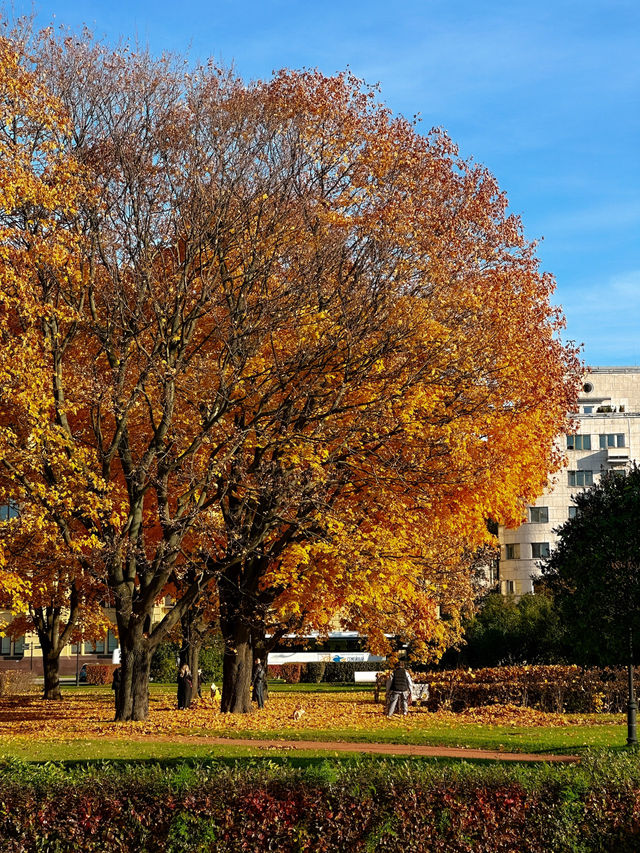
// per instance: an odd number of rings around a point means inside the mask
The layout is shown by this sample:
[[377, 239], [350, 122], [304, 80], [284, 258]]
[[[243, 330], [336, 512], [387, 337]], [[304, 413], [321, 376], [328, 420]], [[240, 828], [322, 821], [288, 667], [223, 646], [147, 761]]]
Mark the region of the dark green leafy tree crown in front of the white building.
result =
[[640, 469], [607, 472], [577, 493], [576, 514], [543, 566], [574, 659], [622, 664], [640, 636]]

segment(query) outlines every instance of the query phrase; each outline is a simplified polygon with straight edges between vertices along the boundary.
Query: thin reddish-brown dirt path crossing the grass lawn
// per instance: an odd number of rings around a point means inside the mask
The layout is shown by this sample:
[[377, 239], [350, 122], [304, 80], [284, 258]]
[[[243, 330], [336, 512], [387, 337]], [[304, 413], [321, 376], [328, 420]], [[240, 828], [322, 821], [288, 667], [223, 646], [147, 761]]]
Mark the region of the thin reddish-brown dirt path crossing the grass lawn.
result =
[[353, 741], [317, 740], [254, 740], [253, 738], [225, 738], [180, 736], [139, 736], [135, 740], [197, 744], [199, 746], [253, 746], [256, 749], [274, 750], [326, 750], [327, 752], [359, 752], [369, 755], [410, 755], [434, 758], [484, 758], [489, 761], [548, 761], [551, 763], [577, 764], [578, 755], [546, 755], [528, 752], [499, 752], [489, 749], [469, 749], [456, 746], [424, 746], [410, 743], [358, 743]]

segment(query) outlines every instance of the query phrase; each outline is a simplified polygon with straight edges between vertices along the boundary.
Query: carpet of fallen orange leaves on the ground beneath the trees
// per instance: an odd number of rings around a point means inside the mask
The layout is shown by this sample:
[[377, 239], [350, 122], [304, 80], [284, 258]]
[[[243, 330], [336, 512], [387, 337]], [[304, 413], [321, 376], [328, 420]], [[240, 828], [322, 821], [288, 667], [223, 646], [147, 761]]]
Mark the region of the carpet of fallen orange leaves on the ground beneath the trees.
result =
[[[29, 738], [40, 741], [73, 741], [108, 736], [132, 739], [146, 736], [249, 737], [265, 733], [286, 738], [305, 731], [335, 731], [336, 735], [353, 729], [388, 732], [390, 726], [403, 731], [419, 731], [439, 722], [445, 726], [477, 724], [482, 726], [591, 726], [620, 724], [621, 715], [551, 714], [515, 705], [491, 705], [451, 711], [429, 712], [413, 706], [407, 717], [389, 722], [383, 705], [370, 693], [300, 694], [276, 693], [265, 707], [252, 714], [222, 714], [219, 703], [203, 699], [186, 711], [178, 711], [172, 693], [152, 693], [149, 718], [143, 722], [113, 722], [113, 697], [106, 690], [88, 689], [65, 696], [60, 702], [45, 702], [35, 697], [0, 699], [0, 737]], [[304, 708], [304, 716], [294, 720], [293, 712]]]

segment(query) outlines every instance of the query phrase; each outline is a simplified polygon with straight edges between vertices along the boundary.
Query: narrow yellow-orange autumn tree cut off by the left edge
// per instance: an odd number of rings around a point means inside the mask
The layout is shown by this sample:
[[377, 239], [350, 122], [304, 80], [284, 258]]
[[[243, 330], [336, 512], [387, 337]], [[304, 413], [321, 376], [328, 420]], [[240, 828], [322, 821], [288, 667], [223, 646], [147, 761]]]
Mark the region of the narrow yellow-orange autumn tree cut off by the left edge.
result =
[[106, 630], [91, 526], [110, 511], [108, 489], [75, 441], [60, 382], [60, 328], [77, 315], [58, 284], [78, 283], [72, 222], [84, 185], [60, 102], [24, 45], [6, 38], [0, 110], [0, 504], [13, 508], [0, 523], [0, 605], [14, 614], [7, 631], [37, 631], [44, 696], [59, 699], [59, 656], [73, 632]]

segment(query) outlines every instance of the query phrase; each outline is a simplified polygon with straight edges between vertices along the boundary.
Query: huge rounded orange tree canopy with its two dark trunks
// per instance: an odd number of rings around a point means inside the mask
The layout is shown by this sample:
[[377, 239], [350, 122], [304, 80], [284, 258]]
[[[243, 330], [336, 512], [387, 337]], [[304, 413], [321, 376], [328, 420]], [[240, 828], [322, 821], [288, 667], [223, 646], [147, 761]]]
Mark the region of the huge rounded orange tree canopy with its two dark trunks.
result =
[[95, 460], [87, 495], [109, 485], [74, 521], [115, 597], [119, 717], [146, 716], [151, 653], [210, 583], [224, 710], [248, 710], [276, 617], [444, 636], [452, 569], [558, 464], [578, 377], [495, 180], [348, 74], [38, 51], [92, 187], [47, 354], [67, 455]]

